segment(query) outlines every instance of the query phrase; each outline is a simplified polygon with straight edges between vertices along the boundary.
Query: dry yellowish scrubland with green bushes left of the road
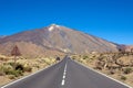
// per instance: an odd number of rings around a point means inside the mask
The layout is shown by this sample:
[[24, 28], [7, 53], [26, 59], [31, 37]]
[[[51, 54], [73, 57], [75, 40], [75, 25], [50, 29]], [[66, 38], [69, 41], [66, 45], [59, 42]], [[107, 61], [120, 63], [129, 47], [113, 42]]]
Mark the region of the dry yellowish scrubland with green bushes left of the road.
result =
[[55, 57], [38, 56], [35, 58], [25, 58], [18, 56], [14, 62], [12, 56], [2, 56], [0, 57], [0, 85], [4, 85], [57, 63]]

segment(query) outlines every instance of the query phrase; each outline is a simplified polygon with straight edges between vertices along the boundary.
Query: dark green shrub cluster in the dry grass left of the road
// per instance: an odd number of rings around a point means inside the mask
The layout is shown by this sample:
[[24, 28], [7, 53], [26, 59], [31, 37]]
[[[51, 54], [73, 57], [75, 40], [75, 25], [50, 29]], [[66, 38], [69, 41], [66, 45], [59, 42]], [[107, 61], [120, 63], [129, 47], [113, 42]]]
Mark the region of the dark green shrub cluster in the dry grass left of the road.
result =
[[16, 79], [17, 77], [23, 76], [24, 73], [31, 73], [32, 68], [30, 66], [23, 66], [23, 64], [3, 63], [0, 66], [0, 76], [8, 75], [10, 79]]

